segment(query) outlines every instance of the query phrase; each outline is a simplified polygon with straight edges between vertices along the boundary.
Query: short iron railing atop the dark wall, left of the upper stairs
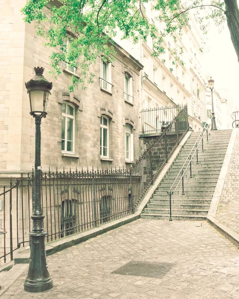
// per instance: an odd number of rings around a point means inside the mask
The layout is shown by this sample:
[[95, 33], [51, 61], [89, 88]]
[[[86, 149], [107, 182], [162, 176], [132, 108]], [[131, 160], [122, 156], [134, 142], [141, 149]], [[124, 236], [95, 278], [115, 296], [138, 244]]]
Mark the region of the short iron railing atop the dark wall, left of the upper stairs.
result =
[[164, 129], [167, 128], [167, 126], [174, 121], [175, 117], [184, 107], [184, 105], [178, 105], [143, 109], [142, 111], [140, 111], [140, 133], [147, 134], [159, 133], [161, 131], [164, 131]]

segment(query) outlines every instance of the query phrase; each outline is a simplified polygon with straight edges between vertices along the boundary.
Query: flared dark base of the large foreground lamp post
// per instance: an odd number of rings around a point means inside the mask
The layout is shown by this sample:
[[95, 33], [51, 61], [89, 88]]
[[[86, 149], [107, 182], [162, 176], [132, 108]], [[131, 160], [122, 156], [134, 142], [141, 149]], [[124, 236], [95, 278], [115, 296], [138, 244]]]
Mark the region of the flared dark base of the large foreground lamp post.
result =
[[30, 264], [27, 278], [24, 282], [24, 291], [38, 293], [50, 290], [53, 287], [45, 257], [45, 233], [30, 233]]

